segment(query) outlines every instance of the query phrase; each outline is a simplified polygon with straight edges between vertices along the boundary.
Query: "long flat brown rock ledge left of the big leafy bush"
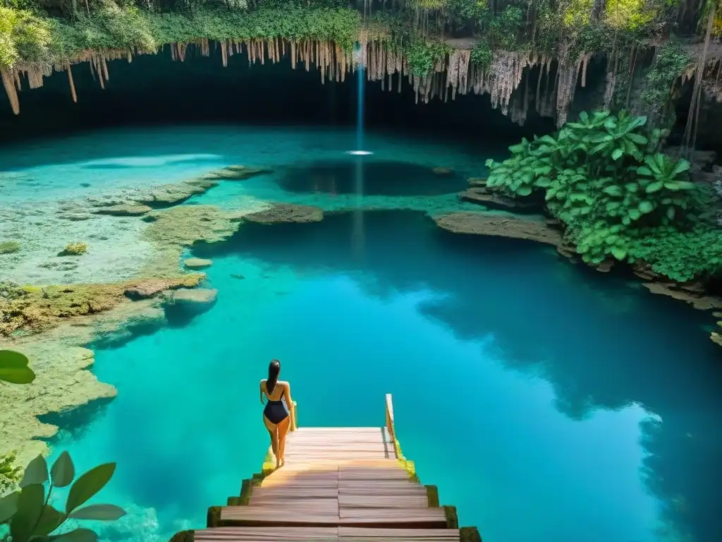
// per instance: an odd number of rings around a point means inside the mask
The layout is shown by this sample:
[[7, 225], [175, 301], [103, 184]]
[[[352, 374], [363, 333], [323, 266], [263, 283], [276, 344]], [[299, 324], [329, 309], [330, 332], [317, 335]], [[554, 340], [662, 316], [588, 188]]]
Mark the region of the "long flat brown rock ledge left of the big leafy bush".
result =
[[563, 242], [562, 234], [541, 220], [484, 215], [479, 212], [452, 212], [433, 217], [433, 220], [439, 228], [452, 233], [530, 239], [554, 246], [560, 246]]

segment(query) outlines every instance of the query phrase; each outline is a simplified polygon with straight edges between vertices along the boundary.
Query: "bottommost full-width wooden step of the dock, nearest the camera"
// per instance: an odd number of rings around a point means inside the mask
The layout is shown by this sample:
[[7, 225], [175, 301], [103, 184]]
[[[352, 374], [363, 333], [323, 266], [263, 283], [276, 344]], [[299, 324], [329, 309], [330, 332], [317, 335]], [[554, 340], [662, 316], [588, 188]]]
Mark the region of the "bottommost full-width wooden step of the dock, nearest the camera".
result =
[[196, 542], [452, 542], [458, 529], [383, 529], [357, 527], [218, 527], [196, 530]]

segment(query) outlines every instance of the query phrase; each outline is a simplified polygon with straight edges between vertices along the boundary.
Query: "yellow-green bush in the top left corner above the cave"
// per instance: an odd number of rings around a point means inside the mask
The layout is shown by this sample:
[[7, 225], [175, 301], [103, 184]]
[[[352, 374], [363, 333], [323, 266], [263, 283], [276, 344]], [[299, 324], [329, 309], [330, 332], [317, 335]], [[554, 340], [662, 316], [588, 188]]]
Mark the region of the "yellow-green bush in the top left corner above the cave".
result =
[[48, 56], [51, 23], [25, 9], [0, 7], [0, 69], [19, 60], [37, 62]]

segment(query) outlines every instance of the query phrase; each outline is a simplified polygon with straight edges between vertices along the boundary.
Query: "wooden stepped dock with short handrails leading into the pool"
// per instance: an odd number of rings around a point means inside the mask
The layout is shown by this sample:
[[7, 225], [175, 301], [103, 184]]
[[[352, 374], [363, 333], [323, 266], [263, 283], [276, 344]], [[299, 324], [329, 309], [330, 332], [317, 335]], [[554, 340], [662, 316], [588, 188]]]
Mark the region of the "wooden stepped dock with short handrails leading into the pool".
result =
[[383, 427], [297, 427], [292, 408], [286, 463], [244, 480], [227, 506], [208, 510], [207, 528], [171, 542], [481, 542], [459, 528], [456, 507], [439, 506], [436, 486], [419, 482], [401, 453], [386, 395]]

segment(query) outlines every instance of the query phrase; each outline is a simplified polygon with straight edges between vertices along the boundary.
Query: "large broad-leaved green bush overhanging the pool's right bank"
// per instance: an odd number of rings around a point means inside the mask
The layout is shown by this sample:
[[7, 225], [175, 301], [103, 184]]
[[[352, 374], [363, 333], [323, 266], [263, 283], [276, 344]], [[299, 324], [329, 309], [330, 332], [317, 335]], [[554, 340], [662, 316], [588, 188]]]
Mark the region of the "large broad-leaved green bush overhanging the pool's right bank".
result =
[[[674, 280], [717, 272], [722, 243], [703, 221], [708, 194], [688, 180], [687, 160], [658, 152], [667, 132], [646, 121], [625, 111], [581, 113], [557, 134], [510, 147], [503, 163], [489, 160], [487, 186], [543, 199], [590, 264], [643, 260]], [[693, 237], [705, 239], [704, 257], [687, 264], [678, 254], [688, 249], [668, 252]]]

